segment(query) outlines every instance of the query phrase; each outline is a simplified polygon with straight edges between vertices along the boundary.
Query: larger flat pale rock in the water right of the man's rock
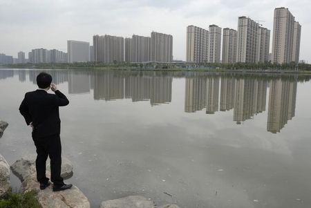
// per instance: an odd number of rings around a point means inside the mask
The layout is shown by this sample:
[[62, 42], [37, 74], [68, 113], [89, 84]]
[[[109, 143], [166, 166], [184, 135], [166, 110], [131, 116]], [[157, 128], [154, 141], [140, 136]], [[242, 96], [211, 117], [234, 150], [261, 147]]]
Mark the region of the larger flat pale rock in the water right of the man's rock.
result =
[[102, 202], [100, 208], [153, 208], [154, 202], [143, 196], [127, 196]]

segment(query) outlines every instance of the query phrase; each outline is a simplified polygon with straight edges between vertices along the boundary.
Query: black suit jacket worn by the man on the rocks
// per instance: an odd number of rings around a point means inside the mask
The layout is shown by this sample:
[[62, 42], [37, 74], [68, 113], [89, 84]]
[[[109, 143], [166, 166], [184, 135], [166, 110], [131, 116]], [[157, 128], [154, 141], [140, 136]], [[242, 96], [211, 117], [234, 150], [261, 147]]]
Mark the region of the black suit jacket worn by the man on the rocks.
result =
[[59, 106], [69, 104], [67, 97], [60, 91], [55, 95], [44, 90], [37, 90], [25, 94], [19, 112], [29, 125], [32, 122], [36, 137], [60, 133]]

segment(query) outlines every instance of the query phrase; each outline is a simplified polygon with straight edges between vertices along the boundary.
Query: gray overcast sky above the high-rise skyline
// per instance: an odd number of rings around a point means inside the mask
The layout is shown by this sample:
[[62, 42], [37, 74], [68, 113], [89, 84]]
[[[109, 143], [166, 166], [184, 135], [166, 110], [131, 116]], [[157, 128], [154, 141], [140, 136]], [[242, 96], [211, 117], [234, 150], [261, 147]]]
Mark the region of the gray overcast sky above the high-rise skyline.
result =
[[274, 8], [281, 6], [301, 23], [300, 59], [311, 63], [310, 0], [0, 0], [0, 53], [66, 52], [68, 39], [93, 45], [96, 34], [131, 37], [156, 31], [173, 35], [173, 57], [185, 60], [188, 25], [237, 29], [238, 16], [247, 16], [265, 21], [272, 31]]

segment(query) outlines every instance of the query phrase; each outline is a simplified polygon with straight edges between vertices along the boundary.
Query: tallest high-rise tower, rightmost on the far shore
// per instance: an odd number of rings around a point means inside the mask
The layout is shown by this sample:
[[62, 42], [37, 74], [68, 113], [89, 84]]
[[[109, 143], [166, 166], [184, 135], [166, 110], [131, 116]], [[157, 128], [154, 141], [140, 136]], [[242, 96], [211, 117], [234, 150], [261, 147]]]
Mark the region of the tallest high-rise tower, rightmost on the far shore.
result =
[[[295, 30], [295, 26], [297, 30]], [[296, 60], [299, 60], [300, 32], [301, 26], [299, 23], [295, 23], [295, 18], [288, 8], [275, 8], [272, 38], [274, 63], [298, 62]]]

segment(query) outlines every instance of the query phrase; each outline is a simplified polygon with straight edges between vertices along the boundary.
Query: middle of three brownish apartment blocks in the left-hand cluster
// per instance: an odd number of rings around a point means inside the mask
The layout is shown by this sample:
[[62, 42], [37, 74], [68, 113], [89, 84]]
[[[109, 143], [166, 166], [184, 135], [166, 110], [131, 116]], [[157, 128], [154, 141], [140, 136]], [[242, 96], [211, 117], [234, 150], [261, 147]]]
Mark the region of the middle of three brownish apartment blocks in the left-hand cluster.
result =
[[133, 35], [125, 41], [126, 62], [149, 62], [150, 37]]

